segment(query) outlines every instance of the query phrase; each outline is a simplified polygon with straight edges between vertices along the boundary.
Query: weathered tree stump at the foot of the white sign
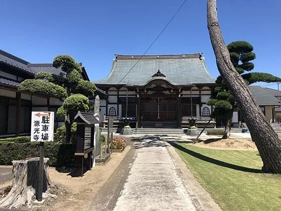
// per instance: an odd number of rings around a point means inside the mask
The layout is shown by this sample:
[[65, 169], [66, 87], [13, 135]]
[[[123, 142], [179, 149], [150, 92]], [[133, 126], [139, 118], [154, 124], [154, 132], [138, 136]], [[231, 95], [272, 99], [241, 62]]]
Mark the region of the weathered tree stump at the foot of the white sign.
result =
[[[48, 160], [44, 158], [43, 192], [53, 187], [49, 178]], [[18, 208], [32, 201], [38, 195], [39, 184], [39, 157], [13, 162], [13, 184], [8, 195], [0, 200], [0, 207]]]

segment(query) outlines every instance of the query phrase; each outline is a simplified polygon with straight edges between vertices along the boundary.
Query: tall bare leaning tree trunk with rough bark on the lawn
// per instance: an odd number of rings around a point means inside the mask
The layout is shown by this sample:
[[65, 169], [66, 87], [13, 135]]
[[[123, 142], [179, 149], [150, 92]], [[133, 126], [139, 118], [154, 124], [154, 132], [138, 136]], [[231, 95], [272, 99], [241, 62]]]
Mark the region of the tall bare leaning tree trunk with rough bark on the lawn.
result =
[[216, 0], [208, 0], [208, 29], [220, 74], [235, 97], [252, 140], [263, 161], [264, 172], [281, 173], [281, 141], [260, 111], [248, 85], [233, 67], [218, 23]]

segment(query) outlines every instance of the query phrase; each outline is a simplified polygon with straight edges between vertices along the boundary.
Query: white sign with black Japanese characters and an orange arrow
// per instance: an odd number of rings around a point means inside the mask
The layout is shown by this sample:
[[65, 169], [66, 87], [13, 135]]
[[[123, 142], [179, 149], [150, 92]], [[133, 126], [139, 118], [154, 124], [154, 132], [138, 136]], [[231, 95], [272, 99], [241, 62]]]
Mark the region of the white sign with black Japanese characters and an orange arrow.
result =
[[32, 112], [31, 141], [46, 142], [54, 140], [54, 112]]

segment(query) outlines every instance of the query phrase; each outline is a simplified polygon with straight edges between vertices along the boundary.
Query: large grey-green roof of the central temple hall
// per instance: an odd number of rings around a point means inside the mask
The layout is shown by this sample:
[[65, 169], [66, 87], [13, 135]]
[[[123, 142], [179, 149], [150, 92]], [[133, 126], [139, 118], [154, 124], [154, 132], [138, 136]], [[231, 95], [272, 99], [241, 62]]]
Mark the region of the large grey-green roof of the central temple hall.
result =
[[144, 85], [157, 70], [174, 85], [215, 83], [201, 54], [185, 55], [117, 55], [109, 75], [93, 81], [99, 84]]

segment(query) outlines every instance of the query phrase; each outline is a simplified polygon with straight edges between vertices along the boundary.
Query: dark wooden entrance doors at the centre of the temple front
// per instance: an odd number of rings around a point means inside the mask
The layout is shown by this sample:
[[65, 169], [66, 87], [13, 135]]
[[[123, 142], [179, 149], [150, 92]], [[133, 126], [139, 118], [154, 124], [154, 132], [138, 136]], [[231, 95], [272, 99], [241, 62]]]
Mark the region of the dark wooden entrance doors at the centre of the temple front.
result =
[[142, 121], [176, 121], [176, 100], [153, 97], [141, 100]]

